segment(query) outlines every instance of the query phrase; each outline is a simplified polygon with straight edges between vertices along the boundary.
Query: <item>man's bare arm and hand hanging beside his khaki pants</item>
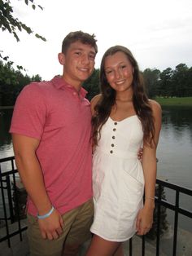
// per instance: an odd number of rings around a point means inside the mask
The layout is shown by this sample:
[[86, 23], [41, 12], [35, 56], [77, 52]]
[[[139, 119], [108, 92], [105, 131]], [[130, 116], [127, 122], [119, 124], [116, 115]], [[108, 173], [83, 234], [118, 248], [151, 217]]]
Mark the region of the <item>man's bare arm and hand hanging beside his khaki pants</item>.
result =
[[[12, 140], [15, 162], [24, 188], [37, 207], [38, 214], [47, 214], [52, 205], [46, 192], [41, 166], [36, 155], [39, 140], [16, 134], [12, 134]], [[43, 238], [56, 239], [62, 232], [63, 219], [57, 210], [54, 210], [47, 218], [38, 219], [38, 223]]]

